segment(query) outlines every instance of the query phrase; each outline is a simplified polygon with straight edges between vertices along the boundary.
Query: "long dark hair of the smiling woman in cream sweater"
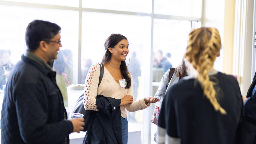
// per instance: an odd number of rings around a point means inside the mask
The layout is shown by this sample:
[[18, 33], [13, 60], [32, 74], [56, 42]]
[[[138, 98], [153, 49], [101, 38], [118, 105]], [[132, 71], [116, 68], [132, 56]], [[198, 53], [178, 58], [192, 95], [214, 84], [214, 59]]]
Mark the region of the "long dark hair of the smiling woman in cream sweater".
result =
[[[111, 53], [108, 50], [109, 47], [114, 48], [115, 45], [117, 45], [118, 42], [120, 42], [121, 40], [127, 40], [127, 38], [121, 34], [111, 34], [107, 40], [105, 41], [105, 55], [102, 58], [102, 63], [108, 63], [111, 59]], [[127, 40], [128, 42], [128, 40]], [[121, 65], [120, 65], [120, 70], [121, 70], [121, 74], [122, 77], [126, 80], [126, 86], [125, 88], [128, 89], [131, 87], [131, 78], [129, 77], [129, 72], [126, 66], [125, 61], [121, 61]]]

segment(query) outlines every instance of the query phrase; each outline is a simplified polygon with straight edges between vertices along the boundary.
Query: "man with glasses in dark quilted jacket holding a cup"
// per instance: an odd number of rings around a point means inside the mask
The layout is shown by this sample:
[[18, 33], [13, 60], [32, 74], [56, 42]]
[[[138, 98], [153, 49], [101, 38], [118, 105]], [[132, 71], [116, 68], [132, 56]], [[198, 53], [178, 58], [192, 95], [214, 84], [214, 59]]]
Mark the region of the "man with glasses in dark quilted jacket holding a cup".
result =
[[62, 47], [60, 27], [34, 20], [26, 29], [27, 50], [6, 84], [1, 115], [1, 143], [66, 144], [84, 119], [67, 120], [52, 63]]

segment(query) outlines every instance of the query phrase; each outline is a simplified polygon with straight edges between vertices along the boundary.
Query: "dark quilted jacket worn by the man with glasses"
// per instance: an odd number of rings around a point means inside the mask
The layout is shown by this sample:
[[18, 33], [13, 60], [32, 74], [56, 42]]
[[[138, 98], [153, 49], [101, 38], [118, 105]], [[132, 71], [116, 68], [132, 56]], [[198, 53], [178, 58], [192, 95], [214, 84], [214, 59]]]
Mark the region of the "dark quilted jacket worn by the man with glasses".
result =
[[2, 106], [1, 143], [64, 144], [73, 131], [55, 72], [22, 55], [9, 75]]

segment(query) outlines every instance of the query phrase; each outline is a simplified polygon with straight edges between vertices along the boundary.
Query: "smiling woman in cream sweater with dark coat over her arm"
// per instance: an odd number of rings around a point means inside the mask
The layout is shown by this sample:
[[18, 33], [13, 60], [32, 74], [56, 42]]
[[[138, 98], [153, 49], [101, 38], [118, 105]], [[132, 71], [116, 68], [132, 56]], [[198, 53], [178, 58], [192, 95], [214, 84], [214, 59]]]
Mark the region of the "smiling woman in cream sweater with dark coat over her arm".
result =
[[[125, 36], [121, 34], [111, 34], [105, 42], [105, 55], [102, 59], [104, 64], [104, 74], [100, 85], [97, 88], [100, 75], [100, 67], [98, 64], [91, 66], [89, 73], [85, 80], [84, 91], [84, 108], [86, 110], [94, 110], [91, 114], [92, 124], [88, 124], [88, 131], [84, 141], [91, 143], [97, 139], [98, 142], [106, 141], [106, 143], [123, 143], [128, 142], [128, 121], [127, 111], [135, 112], [150, 106], [150, 103], [159, 101], [157, 98], [148, 97], [139, 101], [133, 99], [132, 76], [128, 72], [125, 60], [126, 55], [129, 53], [129, 43]], [[107, 103], [99, 103], [98, 95], [108, 97]], [[100, 105], [99, 105], [100, 104]], [[103, 106], [102, 106], [103, 105]], [[106, 118], [102, 117], [102, 107], [108, 109]], [[112, 110], [112, 107], [113, 108]], [[101, 113], [97, 112], [101, 111]], [[111, 113], [111, 115], [109, 114]], [[117, 116], [116, 116], [117, 115]], [[121, 115], [121, 119], [120, 119]], [[98, 119], [109, 120], [109, 123], [116, 123], [115, 127], [110, 125], [113, 129], [113, 141], [108, 140], [108, 131], [99, 131], [99, 125], [105, 127]], [[120, 135], [121, 134], [121, 135]], [[96, 137], [95, 137], [96, 136]], [[101, 136], [101, 137], [98, 137]], [[103, 137], [102, 137], [103, 136]], [[109, 138], [111, 139], [111, 138]], [[122, 142], [120, 141], [122, 139]], [[93, 141], [95, 143], [95, 141]]]

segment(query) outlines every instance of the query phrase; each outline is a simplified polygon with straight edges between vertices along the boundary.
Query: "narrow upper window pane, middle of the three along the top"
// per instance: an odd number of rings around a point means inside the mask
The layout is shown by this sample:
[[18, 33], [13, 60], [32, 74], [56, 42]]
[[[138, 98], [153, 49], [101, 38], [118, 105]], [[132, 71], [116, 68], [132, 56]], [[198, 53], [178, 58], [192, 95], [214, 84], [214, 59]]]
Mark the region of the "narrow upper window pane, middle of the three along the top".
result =
[[151, 13], [151, 0], [83, 0], [82, 7]]

